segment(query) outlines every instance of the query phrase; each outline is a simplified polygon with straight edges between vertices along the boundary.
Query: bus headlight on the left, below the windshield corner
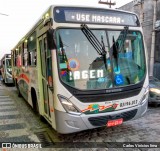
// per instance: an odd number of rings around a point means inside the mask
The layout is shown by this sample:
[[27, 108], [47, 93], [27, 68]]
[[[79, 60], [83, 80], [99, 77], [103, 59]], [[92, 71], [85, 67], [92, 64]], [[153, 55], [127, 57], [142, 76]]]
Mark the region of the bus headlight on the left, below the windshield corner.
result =
[[58, 98], [59, 98], [62, 106], [66, 110], [66, 112], [71, 113], [71, 114], [76, 114], [76, 115], [81, 114], [78, 111], [78, 109], [76, 109], [76, 107], [66, 97], [64, 97], [62, 95], [58, 95]]

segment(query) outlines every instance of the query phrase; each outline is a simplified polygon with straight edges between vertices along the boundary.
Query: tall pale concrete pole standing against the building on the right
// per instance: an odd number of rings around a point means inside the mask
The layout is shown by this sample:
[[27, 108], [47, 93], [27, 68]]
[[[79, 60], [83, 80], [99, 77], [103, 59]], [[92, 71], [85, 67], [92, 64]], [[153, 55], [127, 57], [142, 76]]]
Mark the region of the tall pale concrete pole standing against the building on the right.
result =
[[153, 0], [153, 3], [154, 3], [154, 13], [153, 13], [153, 30], [152, 30], [149, 76], [153, 76], [153, 69], [154, 69], [155, 22], [156, 22], [156, 17], [157, 17], [157, 0]]

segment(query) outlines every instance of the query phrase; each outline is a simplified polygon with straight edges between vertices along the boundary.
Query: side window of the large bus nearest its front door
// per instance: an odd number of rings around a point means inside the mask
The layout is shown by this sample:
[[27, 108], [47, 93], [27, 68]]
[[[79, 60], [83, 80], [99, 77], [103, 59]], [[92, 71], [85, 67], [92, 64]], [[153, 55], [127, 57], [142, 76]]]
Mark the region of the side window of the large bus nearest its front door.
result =
[[28, 57], [29, 65], [35, 66], [37, 64], [36, 32], [28, 38]]

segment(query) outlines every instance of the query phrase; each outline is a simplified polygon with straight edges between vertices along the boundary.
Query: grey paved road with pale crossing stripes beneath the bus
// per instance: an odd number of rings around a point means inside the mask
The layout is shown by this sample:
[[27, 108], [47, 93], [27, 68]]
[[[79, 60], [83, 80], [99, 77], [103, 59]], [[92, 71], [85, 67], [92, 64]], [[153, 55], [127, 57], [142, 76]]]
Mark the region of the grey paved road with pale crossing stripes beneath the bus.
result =
[[[32, 111], [31, 107], [17, 97], [14, 87], [0, 86], [0, 141], [16, 142], [160, 142], [160, 107], [150, 107], [147, 114], [137, 120], [128, 121], [121, 126], [112, 128], [99, 128], [75, 134], [61, 135], [54, 131], [45, 121]], [[41, 150], [41, 149], [40, 149]], [[45, 150], [71, 150], [66, 148]], [[72, 150], [80, 150], [74, 148]], [[86, 151], [95, 148], [81, 149]], [[155, 150], [159, 149], [129, 149], [129, 148], [99, 148], [98, 150], [130, 151], [130, 150]]]

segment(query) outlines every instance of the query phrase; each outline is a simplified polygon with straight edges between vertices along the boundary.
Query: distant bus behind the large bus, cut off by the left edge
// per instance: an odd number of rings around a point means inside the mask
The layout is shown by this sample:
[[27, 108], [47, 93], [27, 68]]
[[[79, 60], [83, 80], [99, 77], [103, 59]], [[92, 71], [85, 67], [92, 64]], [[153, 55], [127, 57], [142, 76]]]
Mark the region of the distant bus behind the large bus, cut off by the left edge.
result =
[[11, 54], [5, 54], [1, 59], [1, 74], [5, 84], [13, 84]]

